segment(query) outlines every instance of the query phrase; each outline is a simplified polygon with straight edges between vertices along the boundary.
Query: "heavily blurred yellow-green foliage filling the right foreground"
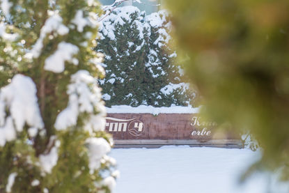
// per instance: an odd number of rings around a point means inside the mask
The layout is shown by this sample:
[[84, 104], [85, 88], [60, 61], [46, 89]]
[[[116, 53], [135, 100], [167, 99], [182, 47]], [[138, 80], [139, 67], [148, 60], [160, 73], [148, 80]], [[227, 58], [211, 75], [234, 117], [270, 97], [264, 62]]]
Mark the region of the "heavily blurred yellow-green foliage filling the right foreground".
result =
[[[203, 113], [249, 130], [263, 157], [254, 169], [289, 180], [289, 1], [166, 0]], [[245, 175], [247, 176], [247, 175]]]

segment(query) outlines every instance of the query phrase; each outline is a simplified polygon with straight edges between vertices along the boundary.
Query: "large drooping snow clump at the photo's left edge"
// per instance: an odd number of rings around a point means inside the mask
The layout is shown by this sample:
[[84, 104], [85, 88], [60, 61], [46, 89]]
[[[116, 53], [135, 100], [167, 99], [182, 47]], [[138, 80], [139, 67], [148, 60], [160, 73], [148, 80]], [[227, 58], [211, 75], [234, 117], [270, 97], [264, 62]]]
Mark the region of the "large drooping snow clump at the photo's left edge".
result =
[[[9, 114], [6, 114], [6, 109]], [[0, 146], [14, 140], [16, 132], [22, 132], [24, 125], [34, 130], [44, 127], [35, 84], [30, 77], [15, 75], [12, 82], [0, 91]]]

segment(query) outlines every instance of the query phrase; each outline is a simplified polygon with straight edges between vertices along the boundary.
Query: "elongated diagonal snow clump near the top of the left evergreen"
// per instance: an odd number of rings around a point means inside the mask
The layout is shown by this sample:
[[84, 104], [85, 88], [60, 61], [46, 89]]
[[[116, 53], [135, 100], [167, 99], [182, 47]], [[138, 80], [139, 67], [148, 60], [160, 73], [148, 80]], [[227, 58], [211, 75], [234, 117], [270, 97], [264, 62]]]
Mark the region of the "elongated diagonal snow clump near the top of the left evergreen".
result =
[[50, 17], [46, 20], [44, 26], [42, 26], [40, 30], [40, 37], [33, 46], [33, 49], [25, 54], [26, 58], [33, 59], [40, 56], [41, 49], [43, 47], [43, 40], [47, 34], [56, 32], [58, 35], [64, 36], [68, 33], [69, 29], [67, 26], [62, 24], [63, 19], [60, 15], [58, 15], [58, 13], [50, 11], [49, 15]]

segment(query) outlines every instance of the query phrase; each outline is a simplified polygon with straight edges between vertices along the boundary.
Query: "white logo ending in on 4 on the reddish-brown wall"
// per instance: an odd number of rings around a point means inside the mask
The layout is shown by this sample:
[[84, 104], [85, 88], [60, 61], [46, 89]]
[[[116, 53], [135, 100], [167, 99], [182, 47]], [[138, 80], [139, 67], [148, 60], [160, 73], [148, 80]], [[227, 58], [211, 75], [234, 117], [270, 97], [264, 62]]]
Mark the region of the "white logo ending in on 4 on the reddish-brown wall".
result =
[[109, 132], [129, 132], [132, 136], [140, 136], [144, 132], [143, 122], [132, 119], [107, 117], [111, 122], [106, 123]]

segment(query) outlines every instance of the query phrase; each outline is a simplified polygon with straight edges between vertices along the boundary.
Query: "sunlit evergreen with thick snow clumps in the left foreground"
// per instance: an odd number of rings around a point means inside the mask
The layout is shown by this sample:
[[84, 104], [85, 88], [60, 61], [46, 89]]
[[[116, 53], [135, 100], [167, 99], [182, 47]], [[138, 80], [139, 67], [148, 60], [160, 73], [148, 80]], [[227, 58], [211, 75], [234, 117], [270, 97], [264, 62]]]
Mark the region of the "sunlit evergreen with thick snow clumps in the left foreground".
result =
[[0, 192], [111, 192], [95, 0], [1, 0]]

